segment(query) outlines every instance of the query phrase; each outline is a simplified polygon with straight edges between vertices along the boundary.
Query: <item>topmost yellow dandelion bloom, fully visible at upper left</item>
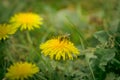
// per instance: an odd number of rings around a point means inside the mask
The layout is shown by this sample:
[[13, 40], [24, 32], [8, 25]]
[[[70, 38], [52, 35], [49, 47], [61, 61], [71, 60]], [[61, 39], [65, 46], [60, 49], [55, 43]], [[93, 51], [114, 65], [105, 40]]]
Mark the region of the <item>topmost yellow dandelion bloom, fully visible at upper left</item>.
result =
[[42, 19], [35, 13], [18, 13], [10, 19], [10, 22], [16, 27], [21, 27], [21, 30], [33, 30], [34, 28], [40, 28]]

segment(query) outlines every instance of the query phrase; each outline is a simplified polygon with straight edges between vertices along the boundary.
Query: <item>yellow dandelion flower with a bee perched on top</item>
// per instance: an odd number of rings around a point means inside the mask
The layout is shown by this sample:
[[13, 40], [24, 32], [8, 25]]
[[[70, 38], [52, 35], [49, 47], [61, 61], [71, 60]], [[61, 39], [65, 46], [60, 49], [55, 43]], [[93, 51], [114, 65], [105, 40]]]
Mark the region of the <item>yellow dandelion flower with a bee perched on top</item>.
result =
[[58, 37], [48, 40], [40, 45], [40, 49], [45, 56], [50, 56], [56, 60], [73, 60], [73, 56], [77, 57], [79, 50], [68, 39]]

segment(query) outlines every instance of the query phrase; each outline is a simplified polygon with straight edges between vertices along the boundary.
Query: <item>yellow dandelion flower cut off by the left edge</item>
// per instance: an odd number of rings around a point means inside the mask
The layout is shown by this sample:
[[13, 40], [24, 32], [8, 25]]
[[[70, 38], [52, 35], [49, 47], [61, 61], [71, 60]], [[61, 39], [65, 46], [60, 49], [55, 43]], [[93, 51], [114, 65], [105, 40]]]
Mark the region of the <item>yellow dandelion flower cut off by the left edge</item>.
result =
[[8, 24], [0, 24], [0, 40], [5, 40], [9, 37], [9, 35], [14, 34], [17, 28], [8, 25]]

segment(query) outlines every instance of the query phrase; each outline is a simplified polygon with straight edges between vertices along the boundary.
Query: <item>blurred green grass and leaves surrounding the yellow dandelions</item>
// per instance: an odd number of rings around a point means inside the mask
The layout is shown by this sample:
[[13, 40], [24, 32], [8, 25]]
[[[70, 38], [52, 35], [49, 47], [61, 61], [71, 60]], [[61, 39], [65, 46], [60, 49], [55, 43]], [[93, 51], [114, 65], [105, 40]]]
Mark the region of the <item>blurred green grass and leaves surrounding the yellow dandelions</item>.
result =
[[[0, 0], [1, 24], [9, 23], [10, 17], [20, 12], [39, 14], [43, 25], [29, 35], [17, 31], [0, 42], [1, 79], [12, 62], [22, 60], [40, 66], [37, 80], [120, 80], [120, 0]], [[41, 55], [44, 60], [40, 60], [35, 54], [40, 53], [39, 44], [63, 34], [70, 34], [80, 49], [78, 59], [58, 62]]]

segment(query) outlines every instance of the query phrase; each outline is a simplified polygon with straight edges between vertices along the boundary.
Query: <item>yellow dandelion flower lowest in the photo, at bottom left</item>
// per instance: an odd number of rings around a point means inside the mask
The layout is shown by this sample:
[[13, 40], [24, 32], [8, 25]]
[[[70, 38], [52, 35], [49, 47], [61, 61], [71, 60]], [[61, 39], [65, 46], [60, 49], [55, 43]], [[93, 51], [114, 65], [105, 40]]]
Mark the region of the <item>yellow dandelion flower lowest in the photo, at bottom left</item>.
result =
[[39, 72], [39, 68], [35, 64], [17, 62], [8, 68], [5, 76], [10, 80], [24, 80], [32, 77], [37, 72]]

